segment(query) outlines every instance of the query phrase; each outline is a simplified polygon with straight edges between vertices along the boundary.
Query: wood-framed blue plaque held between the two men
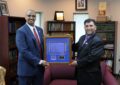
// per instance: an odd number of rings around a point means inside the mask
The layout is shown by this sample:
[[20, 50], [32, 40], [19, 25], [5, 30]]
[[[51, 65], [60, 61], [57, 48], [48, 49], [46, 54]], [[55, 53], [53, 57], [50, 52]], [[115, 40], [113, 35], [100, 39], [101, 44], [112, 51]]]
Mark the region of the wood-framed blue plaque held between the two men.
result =
[[71, 37], [45, 37], [45, 59], [49, 63], [69, 63], [71, 60]]

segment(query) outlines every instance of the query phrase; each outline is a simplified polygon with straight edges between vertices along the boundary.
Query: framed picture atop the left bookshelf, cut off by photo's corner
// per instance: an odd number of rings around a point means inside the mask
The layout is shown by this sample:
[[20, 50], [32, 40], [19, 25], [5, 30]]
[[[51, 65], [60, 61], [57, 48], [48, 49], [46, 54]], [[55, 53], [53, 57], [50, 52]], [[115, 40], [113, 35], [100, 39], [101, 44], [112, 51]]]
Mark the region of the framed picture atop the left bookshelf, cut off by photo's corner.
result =
[[0, 11], [2, 15], [9, 16], [9, 10], [6, 1], [0, 1]]

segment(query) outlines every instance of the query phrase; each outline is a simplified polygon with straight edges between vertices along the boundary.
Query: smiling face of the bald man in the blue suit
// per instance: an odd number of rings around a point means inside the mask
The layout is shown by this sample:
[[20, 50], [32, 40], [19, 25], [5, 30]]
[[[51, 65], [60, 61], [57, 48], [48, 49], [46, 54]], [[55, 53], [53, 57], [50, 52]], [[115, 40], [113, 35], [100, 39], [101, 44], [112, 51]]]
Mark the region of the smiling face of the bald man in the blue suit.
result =
[[26, 19], [26, 22], [27, 22], [29, 25], [34, 26], [35, 19], [36, 19], [36, 14], [35, 14], [35, 12], [34, 12], [34, 11], [31, 11], [31, 10], [28, 11], [28, 12], [26, 13], [25, 19]]

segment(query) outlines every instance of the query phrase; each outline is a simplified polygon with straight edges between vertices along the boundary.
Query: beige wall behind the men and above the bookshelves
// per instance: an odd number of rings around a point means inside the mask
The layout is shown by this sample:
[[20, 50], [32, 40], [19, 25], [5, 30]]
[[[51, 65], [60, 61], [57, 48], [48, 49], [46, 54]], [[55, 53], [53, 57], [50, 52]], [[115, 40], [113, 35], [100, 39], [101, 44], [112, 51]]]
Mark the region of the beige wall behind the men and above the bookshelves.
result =
[[[24, 17], [27, 9], [34, 9], [43, 13], [43, 28], [46, 29], [46, 21], [54, 19], [55, 10], [63, 10], [65, 14], [65, 20], [73, 20], [73, 13], [89, 13], [91, 18], [96, 19], [98, 14], [98, 2], [104, 0], [88, 0], [87, 11], [75, 11], [75, 0], [7, 0], [10, 16]], [[112, 20], [119, 21], [118, 28], [120, 28], [120, 0], [106, 0], [107, 1], [107, 15], [111, 16]], [[117, 59], [116, 72], [120, 69], [120, 30], [117, 31]]]

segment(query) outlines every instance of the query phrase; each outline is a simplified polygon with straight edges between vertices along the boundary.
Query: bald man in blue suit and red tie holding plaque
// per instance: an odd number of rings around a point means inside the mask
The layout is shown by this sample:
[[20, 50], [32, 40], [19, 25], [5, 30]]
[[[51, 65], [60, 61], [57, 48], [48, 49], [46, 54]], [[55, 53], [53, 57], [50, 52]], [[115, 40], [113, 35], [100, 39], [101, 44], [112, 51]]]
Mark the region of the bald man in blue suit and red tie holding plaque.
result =
[[28, 10], [25, 19], [26, 24], [16, 33], [19, 85], [43, 85], [44, 67], [48, 65], [43, 60], [43, 30], [34, 25], [34, 10]]

